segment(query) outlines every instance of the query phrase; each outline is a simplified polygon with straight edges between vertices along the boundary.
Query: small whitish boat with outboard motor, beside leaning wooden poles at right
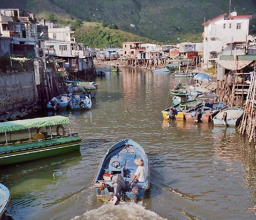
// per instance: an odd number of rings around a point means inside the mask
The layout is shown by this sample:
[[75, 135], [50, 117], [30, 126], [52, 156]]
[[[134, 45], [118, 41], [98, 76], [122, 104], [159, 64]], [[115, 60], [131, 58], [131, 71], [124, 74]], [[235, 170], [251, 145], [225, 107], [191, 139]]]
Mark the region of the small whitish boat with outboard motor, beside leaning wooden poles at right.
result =
[[241, 108], [227, 108], [221, 110], [214, 118], [214, 125], [238, 126], [244, 110]]

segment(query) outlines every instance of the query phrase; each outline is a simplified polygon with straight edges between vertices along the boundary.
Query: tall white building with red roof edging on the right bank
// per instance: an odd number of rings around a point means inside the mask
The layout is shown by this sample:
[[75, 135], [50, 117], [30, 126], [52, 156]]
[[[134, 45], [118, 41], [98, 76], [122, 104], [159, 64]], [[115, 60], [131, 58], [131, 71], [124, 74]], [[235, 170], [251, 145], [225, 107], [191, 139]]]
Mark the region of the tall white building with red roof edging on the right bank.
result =
[[[252, 15], [240, 15], [236, 12], [221, 14], [202, 23], [204, 26], [204, 69], [211, 67], [220, 55], [232, 55], [237, 44], [247, 43], [249, 20]], [[242, 51], [237, 51], [239, 55]]]

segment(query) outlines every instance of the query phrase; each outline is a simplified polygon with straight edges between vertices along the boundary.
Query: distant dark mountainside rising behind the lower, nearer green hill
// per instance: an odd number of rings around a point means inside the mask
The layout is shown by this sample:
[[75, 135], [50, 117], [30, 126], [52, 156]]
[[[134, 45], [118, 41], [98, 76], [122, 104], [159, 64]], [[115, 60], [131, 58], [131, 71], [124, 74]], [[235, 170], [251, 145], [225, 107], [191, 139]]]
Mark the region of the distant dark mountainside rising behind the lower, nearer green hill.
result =
[[[228, 0], [1, 0], [2, 7], [18, 7], [37, 15], [54, 13], [90, 22], [114, 23], [118, 29], [163, 43], [201, 41], [204, 18], [228, 13]], [[255, 0], [232, 0], [232, 9], [256, 14]], [[250, 30], [256, 31], [256, 19]]]

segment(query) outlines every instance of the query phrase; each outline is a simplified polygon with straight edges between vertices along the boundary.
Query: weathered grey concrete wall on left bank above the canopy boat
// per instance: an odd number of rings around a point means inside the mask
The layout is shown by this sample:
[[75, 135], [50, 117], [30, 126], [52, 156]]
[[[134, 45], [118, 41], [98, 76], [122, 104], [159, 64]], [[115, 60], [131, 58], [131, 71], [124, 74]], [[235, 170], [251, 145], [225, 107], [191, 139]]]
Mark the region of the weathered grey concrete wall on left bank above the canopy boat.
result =
[[34, 72], [0, 75], [0, 112], [20, 110], [37, 102]]

